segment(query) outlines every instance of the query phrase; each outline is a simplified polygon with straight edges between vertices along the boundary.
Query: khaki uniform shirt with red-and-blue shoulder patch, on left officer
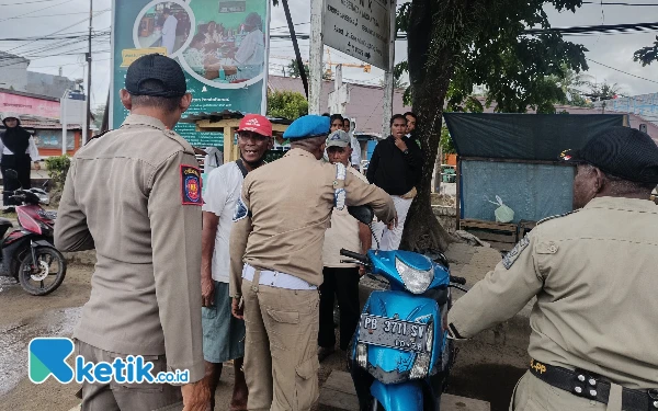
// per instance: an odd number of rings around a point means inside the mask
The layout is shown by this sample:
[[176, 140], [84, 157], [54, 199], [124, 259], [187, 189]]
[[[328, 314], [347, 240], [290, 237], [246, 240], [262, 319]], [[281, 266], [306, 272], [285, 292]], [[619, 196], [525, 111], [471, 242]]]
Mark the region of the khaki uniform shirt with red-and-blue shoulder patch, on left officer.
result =
[[190, 144], [131, 115], [76, 153], [55, 225], [59, 250], [97, 250], [73, 336], [120, 354], [166, 354], [191, 383], [204, 375], [197, 168]]

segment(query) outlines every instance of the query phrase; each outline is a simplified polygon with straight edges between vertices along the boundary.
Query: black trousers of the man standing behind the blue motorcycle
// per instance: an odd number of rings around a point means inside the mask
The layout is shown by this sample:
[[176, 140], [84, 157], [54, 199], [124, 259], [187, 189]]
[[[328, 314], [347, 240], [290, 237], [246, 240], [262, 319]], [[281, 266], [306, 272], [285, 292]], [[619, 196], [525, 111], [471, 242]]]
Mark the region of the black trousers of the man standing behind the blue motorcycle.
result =
[[332, 269], [322, 271], [325, 282], [320, 285], [320, 329], [318, 345], [336, 345], [333, 332], [333, 296], [340, 306], [340, 349], [348, 350], [350, 340], [359, 326], [361, 317], [359, 305], [359, 267]]

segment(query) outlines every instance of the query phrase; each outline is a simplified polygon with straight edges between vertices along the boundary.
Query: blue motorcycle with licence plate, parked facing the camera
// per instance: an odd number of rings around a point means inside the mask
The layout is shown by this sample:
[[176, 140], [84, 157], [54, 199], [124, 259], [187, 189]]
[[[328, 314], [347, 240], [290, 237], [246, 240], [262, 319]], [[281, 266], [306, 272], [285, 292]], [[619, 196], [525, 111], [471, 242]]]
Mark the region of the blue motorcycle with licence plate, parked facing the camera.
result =
[[[349, 212], [371, 226], [370, 207]], [[466, 292], [457, 285], [466, 281], [450, 275], [442, 253], [371, 250], [364, 255], [344, 249], [340, 253], [389, 286], [371, 294], [348, 351], [361, 410], [438, 411], [455, 358], [447, 338], [451, 288]]]

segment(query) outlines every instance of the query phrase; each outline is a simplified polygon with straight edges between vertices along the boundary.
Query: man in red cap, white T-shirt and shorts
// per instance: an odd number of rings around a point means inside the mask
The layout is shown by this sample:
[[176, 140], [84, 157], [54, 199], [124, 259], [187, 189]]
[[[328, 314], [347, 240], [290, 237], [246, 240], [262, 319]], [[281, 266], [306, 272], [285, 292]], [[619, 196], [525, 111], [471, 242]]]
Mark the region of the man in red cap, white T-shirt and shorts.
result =
[[247, 383], [242, 368], [245, 321], [231, 316], [228, 296], [228, 239], [242, 180], [263, 164], [272, 147], [272, 124], [262, 115], [248, 114], [238, 128], [240, 158], [208, 174], [203, 206], [201, 288], [203, 297], [203, 356], [211, 388], [211, 406], [222, 375], [222, 363], [234, 359], [235, 385], [230, 410], [247, 409]]

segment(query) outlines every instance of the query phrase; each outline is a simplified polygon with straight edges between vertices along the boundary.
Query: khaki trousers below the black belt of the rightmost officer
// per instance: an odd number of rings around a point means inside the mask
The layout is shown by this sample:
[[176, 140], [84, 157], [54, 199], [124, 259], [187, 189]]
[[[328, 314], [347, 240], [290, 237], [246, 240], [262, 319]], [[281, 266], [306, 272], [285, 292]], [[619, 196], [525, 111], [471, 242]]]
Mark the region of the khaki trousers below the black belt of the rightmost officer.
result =
[[604, 404], [555, 388], [527, 372], [514, 388], [510, 411], [620, 411], [621, 387], [616, 387], [619, 395], [611, 392], [609, 404]]

